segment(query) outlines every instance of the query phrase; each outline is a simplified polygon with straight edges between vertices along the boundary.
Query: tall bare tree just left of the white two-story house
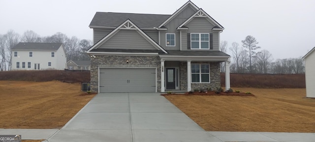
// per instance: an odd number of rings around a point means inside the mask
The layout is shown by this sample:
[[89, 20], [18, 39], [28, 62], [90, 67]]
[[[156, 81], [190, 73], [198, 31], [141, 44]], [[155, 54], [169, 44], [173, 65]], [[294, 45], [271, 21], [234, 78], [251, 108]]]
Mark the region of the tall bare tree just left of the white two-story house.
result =
[[13, 30], [9, 30], [6, 33], [6, 42], [5, 42], [5, 46], [6, 49], [8, 50], [7, 53], [7, 58], [6, 58], [6, 62], [8, 63], [8, 69], [11, 70], [12, 67], [12, 54], [11, 54], [11, 49], [20, 42], [20, 35], [15, 33]]

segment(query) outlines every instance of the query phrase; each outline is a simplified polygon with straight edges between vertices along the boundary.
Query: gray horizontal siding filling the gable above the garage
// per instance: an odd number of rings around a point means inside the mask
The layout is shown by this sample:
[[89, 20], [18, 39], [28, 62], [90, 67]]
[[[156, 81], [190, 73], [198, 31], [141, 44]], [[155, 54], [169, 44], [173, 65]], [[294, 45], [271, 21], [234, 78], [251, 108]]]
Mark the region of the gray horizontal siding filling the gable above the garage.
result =
[[107, 49], [156, 49], [135, 30], [120, 30], [99, 48]]

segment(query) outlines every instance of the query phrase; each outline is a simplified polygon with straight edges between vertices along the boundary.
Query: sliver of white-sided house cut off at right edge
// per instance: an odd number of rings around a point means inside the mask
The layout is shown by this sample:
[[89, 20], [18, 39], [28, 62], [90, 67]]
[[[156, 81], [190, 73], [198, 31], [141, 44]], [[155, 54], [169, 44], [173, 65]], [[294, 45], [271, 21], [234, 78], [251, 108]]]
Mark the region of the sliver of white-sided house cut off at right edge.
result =
[[315, 47], [302, 59], [305, 61], [306, 97], [315, 98]]

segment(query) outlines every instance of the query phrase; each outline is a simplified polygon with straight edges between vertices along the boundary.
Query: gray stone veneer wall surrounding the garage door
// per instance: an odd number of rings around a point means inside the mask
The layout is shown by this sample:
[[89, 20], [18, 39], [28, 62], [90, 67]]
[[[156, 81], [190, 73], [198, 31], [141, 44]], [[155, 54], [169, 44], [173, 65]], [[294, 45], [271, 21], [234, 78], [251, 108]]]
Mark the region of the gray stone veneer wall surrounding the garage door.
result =
[[[129, 61], [128, 64], [126, 61]], [[116, 56], [116, 55], [97, 55], [91, 58], [91, 90], [98, 91], [98, 67], [117, 67], [117, 68], [157, 68], [157, 87], [161, 89], [161, 62], [158, 56]]]

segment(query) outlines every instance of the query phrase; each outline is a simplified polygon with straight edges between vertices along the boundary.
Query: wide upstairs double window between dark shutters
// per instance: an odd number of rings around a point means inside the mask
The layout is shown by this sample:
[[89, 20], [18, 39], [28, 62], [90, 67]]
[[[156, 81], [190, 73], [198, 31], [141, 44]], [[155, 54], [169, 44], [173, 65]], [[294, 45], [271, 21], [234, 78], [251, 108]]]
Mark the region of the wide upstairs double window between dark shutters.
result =
[[191, 49], [209, 49], [209, 34], [191, 34], [190, 48]]

